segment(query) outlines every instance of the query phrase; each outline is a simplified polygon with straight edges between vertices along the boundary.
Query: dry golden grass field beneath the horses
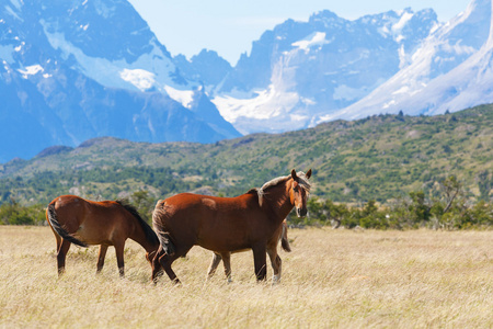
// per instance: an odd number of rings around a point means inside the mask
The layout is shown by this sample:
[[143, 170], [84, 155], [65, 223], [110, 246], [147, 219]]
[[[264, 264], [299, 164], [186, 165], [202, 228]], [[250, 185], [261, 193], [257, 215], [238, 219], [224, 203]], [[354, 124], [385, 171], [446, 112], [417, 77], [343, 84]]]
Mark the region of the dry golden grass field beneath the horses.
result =
[[[493, 231], [291, 229], [283, 280], [255, 283], [251, 252], [205, 283], [210, 252], [194, 247], [149, 282], [144, 249], [114, 249], [95, 275], [96, 247], [71, 248], [56, 273], [47, 227], [0, 226], [1, 328], [493, 328]], [[268, 275], [272, 269], [268, 268]]]

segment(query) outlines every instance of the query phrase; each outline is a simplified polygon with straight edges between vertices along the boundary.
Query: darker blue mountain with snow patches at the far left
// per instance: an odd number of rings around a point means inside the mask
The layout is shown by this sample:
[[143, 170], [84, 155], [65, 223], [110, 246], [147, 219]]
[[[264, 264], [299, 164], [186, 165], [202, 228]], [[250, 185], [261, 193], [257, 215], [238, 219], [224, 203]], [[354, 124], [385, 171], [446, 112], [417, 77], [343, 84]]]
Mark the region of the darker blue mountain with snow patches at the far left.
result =
[[0, 63], [0, 162], [98, 136], [240, 136], [126, 0], [4, 0]]

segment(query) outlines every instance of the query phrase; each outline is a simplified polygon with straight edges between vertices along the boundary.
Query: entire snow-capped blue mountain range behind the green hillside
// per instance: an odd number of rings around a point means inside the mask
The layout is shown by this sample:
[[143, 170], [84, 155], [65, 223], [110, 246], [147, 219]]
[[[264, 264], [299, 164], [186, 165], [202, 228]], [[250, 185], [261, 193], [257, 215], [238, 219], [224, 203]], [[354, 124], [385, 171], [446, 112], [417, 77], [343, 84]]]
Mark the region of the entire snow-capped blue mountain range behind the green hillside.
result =
[[173, 58], [127, 0], [2, 0], [0, 162], [99, 136], [210, 143], [493, 102], [492, 1], [447, 23], [432, 9], [324, 10], [266, 31], [231, 67], [214, 50]]

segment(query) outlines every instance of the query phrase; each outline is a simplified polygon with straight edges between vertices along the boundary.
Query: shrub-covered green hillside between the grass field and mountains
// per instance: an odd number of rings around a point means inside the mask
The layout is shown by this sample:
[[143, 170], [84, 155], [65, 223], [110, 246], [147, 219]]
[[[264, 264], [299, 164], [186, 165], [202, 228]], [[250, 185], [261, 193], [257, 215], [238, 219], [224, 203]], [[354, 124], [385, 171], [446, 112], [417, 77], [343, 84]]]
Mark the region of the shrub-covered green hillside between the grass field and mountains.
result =
[[[379, 115], [278, 135], [203, 145], [96, 138], [0, 164], [0, 202], [46, 203], [59, 194], [115, 198], [193, 191], [233, 196], [289, 170], [313, 169], [312, 194], [389, 202], [432, 193], [454, 174], [488, 198], [493, 172], [493, 105], [437, 116]], [[490, 184], [490, 185], [489, 185]]]

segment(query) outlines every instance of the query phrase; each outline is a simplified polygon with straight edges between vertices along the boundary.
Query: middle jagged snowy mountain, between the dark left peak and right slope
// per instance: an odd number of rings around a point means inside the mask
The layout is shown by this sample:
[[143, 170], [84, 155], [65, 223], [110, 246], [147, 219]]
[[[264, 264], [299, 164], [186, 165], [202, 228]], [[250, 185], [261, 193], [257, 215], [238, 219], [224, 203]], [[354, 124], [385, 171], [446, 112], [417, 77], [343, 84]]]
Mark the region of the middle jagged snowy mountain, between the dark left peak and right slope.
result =
[[438, 22], [411, 9], [355, 21], [330, 11], [287, 20], [253, 43], [211, 90], [221, 115], [243, 134], [284, 132], [363, 99], [406, 67]]

